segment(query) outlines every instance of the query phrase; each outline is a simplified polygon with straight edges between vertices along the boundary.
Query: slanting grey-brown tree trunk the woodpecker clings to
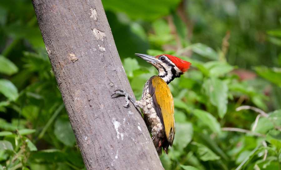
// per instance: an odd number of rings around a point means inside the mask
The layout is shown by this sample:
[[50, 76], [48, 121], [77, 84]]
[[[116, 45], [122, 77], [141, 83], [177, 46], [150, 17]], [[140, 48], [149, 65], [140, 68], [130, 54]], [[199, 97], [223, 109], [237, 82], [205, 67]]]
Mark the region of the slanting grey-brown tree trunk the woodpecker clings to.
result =
[[32, 3], [86, 168], [163, 169], [137, 109], [111, 98], [133, 92], [101, 0]]

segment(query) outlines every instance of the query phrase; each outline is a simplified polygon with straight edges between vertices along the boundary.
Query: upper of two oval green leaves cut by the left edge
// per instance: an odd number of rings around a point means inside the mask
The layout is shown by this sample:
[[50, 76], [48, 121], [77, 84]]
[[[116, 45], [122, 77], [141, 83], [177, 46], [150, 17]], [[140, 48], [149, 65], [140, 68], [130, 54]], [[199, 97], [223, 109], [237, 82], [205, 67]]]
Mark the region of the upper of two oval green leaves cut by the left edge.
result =
[[0, 73], [12, 75], [18, 72], [17, 66], [9, 59], [0, 55]]

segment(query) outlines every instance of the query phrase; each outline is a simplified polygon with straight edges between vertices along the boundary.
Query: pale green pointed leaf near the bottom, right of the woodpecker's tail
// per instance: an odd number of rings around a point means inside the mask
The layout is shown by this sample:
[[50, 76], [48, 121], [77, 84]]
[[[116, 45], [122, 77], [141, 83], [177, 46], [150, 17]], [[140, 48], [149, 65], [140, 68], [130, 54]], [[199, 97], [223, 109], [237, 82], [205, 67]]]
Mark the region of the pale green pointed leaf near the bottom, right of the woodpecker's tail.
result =
[[192, 144], [195, 144], [198, 147], [196, 153], [200, 156], [200, 159], [202, 161], [214, 161], [220, 159], [217, 154], [215, 154], [211, 149], [209, 149], [205, 145], [199, 144], [197, 142], [192, 142]]

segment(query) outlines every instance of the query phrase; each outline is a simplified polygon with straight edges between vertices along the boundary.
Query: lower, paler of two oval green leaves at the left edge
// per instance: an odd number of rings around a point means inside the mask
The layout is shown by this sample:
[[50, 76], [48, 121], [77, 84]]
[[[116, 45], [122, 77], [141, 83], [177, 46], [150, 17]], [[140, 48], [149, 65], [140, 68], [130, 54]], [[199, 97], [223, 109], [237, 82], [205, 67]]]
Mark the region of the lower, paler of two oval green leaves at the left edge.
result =
[[0, 92], [10, 101], [15, 101], [18, 98], [17, 87], [7, 79], [0, 79]]

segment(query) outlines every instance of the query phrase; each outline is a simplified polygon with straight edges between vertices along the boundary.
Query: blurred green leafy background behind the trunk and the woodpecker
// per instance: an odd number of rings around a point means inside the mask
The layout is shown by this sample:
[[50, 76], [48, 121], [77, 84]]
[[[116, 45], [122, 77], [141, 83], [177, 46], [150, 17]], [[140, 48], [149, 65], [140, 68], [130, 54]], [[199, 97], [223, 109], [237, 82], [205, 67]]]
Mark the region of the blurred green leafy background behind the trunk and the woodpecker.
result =
[[[158, 73], [134, 53], [192, 63], [165, 169], [280, 169], [281, 1], [102, 2], [137, 99]], [[0, 169], [83, 169], [31, 1], [0, 1], [0, 52]]]

